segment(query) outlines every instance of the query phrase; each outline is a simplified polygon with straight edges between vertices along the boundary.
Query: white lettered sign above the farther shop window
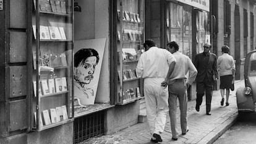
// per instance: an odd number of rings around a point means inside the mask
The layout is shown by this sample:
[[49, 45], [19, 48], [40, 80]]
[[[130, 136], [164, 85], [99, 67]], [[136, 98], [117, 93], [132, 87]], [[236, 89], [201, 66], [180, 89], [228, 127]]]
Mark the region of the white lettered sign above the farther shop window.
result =
[[[174, 1], [174, 0], [167, 0]], [[210, 0], [175, 0], [182, 2], [184, 4], [188, 4], [193, 7], [197, 7], [198, 9], [202, 9], [203, 11], [210, 11]]]

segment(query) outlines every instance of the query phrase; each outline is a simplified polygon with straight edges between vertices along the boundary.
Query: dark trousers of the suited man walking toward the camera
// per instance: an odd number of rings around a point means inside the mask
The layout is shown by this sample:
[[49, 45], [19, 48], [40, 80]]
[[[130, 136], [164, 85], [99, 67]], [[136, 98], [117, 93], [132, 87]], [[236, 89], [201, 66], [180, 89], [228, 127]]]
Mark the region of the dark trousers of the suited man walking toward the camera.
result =
[[203, 95], [206, 96], [206, 111], [211, 111], [211, 96], [213, 95], [213, 82], [203, 80], [197, 82], [197, 105], [200, 106], [203, 101]]

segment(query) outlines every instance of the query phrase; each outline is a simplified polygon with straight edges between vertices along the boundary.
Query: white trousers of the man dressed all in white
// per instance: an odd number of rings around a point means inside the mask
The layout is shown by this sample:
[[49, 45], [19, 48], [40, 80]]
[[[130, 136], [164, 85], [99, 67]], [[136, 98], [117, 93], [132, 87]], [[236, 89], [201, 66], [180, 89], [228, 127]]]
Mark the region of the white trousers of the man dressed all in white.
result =
[[168, 87], [161, 87], [164, 78], [145, 78], [144, 95], [150, 133], [164, 130], [168, 108]]

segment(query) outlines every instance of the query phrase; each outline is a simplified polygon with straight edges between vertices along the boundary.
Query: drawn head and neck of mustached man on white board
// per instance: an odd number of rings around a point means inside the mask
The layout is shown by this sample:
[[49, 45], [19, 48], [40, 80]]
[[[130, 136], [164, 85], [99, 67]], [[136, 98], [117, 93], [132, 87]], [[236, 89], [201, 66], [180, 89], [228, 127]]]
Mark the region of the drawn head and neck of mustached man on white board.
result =
[[74, 55], [74, 96], [82, 105], [95, 96], [93, 88], [88, 86], [99, 60], [98, 52], [92, 48], [79, 49]]

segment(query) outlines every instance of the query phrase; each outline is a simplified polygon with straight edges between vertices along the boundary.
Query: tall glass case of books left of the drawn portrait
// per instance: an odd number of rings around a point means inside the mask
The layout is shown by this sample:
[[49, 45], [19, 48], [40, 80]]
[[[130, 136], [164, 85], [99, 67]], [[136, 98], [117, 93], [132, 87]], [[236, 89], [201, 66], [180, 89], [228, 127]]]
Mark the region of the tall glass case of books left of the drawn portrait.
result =
[[73, 117], [71, 2], [69, 0], [33, 1], [32, 117], [34, 121], [32, 127], [34, 129], [49, 129]]

